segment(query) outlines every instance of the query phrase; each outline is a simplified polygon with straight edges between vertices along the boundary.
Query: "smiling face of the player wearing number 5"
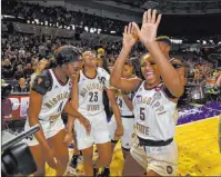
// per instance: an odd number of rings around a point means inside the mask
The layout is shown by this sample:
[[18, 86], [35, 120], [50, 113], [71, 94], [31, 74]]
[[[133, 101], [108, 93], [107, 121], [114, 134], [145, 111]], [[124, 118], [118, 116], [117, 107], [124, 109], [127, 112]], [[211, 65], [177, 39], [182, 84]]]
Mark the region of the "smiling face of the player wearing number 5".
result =
[[160, 82], [161, 79], [158, 65], [149, 53], [142, 57], [140, 66], [142, 75], [145, 78], [148, 85], [152, 86]]

